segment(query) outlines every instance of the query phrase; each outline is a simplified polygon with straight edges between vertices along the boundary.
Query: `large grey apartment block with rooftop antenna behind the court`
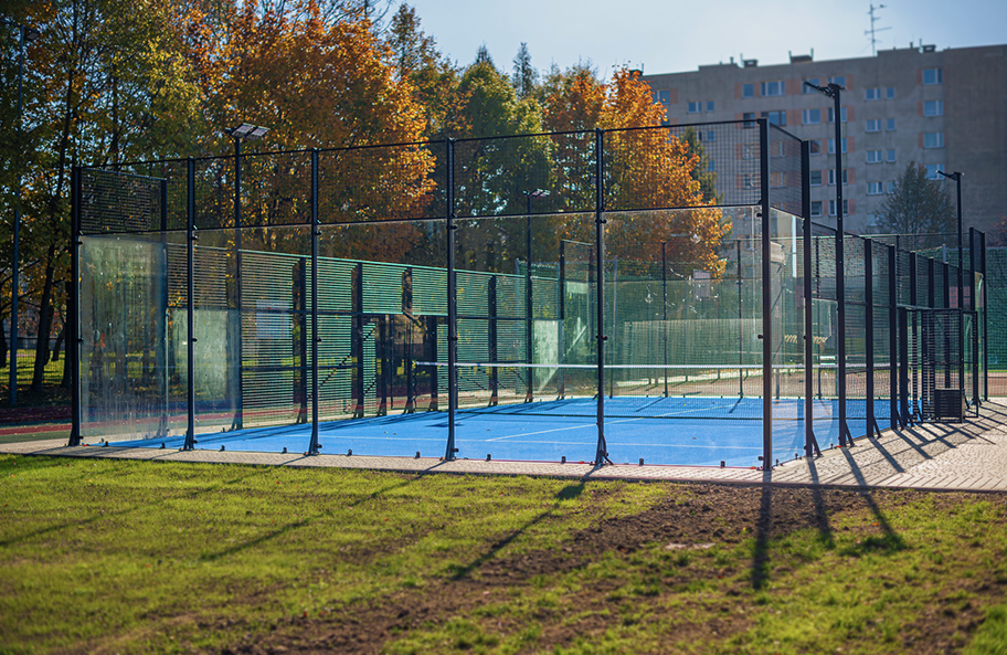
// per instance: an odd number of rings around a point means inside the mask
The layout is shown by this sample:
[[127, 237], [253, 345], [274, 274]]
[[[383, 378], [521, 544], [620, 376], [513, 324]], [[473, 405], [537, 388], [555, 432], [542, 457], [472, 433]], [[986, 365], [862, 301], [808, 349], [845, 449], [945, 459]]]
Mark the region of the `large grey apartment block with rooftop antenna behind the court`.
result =
[[[731, 60], [643, 80], [666, 106], [669, 125], [765, 117], [810, 140], [812, 213], [824, 223], [836, 215], [841, 180], [846, 229], [873, 231], [910, 161], [934, 178], [939, 170], [962, 171], [966, 230], [993, 229], [1007, 215], [1007, 45], [923, 45], [822, 62], [792, 55], [787, 64], [768, 66]], [[831, 98], [805, 81], [845, 87], [839, 144]], [[839, 172], [837, 147], [844, 152]]]

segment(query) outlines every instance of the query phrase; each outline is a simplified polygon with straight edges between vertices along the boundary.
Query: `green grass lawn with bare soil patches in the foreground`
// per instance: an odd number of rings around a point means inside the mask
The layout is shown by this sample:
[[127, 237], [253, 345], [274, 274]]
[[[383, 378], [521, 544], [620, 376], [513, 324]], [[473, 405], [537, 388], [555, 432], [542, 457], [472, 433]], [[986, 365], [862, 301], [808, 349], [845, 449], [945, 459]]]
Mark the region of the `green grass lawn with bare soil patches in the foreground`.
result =
[[1007, 497], [775, 494], [0, 455], [0, 653], [1007, 653]]

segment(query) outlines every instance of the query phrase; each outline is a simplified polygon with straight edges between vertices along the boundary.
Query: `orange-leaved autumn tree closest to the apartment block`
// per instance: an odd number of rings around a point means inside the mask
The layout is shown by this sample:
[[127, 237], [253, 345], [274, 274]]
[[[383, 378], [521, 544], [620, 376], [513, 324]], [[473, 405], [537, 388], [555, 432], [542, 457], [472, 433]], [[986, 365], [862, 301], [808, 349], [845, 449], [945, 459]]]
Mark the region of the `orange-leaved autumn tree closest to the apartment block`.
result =
[[[660, 243], [674, 244], [678, 262], [688, 262], [714, 274], [723, 270], [717, 249], [731, 225], [709, 205], [716, 200], [702, 189], [701, 157], [689, 145], [660, 127], [664, 107], [638, 74], [617, 70], [607, 84], [590, 67], [576, 66], [547, 80], [545, 125], [549, 129], [606, 130], [605, 207], [626, 213], [610, 221], [608, 244], [614, 255], [640, 256], [649, 244], [657, 257]], [[593, 152], [582, 138], [563, 137], [555, 159], [560, 175], [583, 178]], [[586, 190], [585, 190], [586, 191]], [[672, 211], [674, 208], [690, 208]], [[583, 224], [561, 225], [564, 237], [585, 241]], [[680, 235], [690, 235], [681, 239]]]

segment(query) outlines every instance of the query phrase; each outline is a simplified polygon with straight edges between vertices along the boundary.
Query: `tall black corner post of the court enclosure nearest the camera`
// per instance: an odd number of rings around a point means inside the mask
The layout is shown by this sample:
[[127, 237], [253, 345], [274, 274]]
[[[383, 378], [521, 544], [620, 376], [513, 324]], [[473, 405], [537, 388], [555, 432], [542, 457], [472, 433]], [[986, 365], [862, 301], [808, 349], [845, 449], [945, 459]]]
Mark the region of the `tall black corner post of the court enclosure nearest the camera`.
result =
[[762, 219], [762, 457], [773, 465], [773, 297], [772, 221], [770, 216], [770, 124], [759, 122], [760, 218]]

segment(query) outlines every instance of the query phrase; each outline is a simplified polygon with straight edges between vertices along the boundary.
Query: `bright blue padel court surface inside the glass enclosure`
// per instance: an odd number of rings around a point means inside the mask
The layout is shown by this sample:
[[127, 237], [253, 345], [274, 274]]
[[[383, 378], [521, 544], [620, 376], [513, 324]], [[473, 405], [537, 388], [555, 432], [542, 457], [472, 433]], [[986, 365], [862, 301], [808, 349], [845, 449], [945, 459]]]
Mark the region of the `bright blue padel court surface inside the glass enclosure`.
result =
[[[876, 403], [878, 422], [888, 424], [889, 403]], [[866, 403], [851, 401], [848, 425], [854, 436], [867, 433]], [[804, 454], [805, 403], [773, 402], [773, 458], [785, 462]], [[815, 400], [813, 426], [820, 447], [839, 443], [838, 409], [834, 400]], [[605, 439], [615, 463], [761, 466], [762, 399], [660, 398], [605, 399]], [[882, 414], [882, 412], [884, 412]], [[883, 416], [883, 420], [882, 420]], [[218, 430], [220, 430], [218, 427]], [[203, 432], [197, 448], [219, 451], [307, 451], [310, 425], [284, 425]], [[447, 446], [447, 412], [416, 412], [319, 424], [321, 453], [361, 456], [442, 457]], [[116, 446], [179, 448], [184, 437], [116, 442]], [[459, 458], [591, 462], [597, 444], [593, 399], [540, 401], [455, 414], [455, 446]]]

